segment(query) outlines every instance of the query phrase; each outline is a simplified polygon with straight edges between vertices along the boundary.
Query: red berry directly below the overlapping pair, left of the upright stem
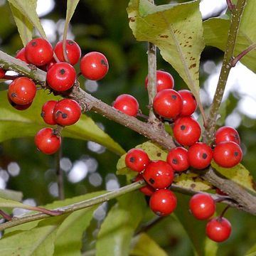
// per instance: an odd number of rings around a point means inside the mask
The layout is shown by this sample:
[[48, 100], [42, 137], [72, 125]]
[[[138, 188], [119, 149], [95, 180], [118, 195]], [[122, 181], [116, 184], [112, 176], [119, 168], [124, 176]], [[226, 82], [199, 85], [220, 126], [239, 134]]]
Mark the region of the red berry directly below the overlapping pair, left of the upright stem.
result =
[[201, 136], [201, 127], [192, 117], [179, 117], [174, 122], [174, 138], [183, 146], [192, 146]]

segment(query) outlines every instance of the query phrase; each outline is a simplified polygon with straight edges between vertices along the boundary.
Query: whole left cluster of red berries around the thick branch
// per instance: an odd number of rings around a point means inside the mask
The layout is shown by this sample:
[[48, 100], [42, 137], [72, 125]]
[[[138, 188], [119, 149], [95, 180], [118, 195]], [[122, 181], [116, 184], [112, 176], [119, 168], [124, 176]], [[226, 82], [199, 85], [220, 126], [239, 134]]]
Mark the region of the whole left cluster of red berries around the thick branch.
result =
[[[16, 58], [45, 70], [46, 88], [55, 94], [61, 94], [70, 90], [75, 84], [77, 74], [73, 65], [78, 63], [81, 57], [80, 46], [75, 41], [65, 41], [65, 54], [63, 48], [63, 41], [59, 41], [53, 48], [45, 39], [34, 38], [18, 51]], [[80, 60], [80, 73], [90, 80], [104, 78], [108, 68], [107, 58], [99, 52], [87, 53]], [[4, 78], [4, 75], [5, 71], [0, 70], [0, 78]], [[37, 89], [35, 82], [30, 78], [22, 76], [15, 78], [9, 85], [9, 102], [17, 110], [26, 110], [31, 106]], [[46, 124], [57, 124], [59, 127], [75, 124], [80, 119], [80, 115], [80, 105], [71, 99], [50, 100], [43, 105], [41, 112]], [[58, 129], [41, 129], [36, 134], [35, 143], [43, 153], [55, 153], [61, 144]]]

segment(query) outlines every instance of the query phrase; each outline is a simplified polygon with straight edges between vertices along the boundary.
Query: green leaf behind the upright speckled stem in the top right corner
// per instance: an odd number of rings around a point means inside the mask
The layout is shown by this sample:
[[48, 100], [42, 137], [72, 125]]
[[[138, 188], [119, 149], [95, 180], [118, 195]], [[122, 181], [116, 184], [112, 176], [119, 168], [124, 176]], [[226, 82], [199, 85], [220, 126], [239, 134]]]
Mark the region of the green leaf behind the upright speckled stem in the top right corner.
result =
[[[235, 53], [238, 55], [252, 43], [256, 42], [256, 31], [252, 24], [256, 23], [256, 16], [252, 15], [256, 11], [255, 1], [247, 1], [242, 14], [238, 38], [235, 43]], [[220, 50], [225, 50], [228, 40], [228, 29], [230, 21], [226, 18], [210, 18], [203, 22], [203, 36], [207, 46], [215, 46]], [[240, 61], [247, 68], [256, 73], [255, 66], [256, 50], [251, 50]]]

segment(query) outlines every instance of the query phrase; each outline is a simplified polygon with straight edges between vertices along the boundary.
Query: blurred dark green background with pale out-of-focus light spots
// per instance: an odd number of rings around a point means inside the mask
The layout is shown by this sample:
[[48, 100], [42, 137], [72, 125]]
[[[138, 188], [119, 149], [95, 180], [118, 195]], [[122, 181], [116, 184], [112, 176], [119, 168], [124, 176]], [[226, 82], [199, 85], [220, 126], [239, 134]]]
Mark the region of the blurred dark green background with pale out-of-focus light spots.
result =
[[[42, 2], [45, 6], [53, 4], [47, 14], [42, 14], [41, 19], [54, 46], [62, 36], [66, 1]], [[155, 2], [169, 4], [170, 1]], [[111, 104], [118, 95], [129, 93], [137, 97], [140, 109], [147, 114], [148, 101], [144, 87], [147, 74], [147, 45], [135, 41], [132, 35], [128, 26], [127, 4], [128, 1], [123, 0], [80, 0], [71, 21], [68, 38], [74, 39], [80, 45], [82, 54], [97, 50], [104, 53], [110, 63], [109, 73], [97, 84], [91, 84], [80, 78], [80, 84], [85, 90], [108, 104]], [[0, 5], [1, 19], [4, 21], [0, 23], [0, 48], [10, 55], [15, 55], [16, 51], [22, 48], [21, 40], [10, 15], [9, 5], [5, 1], [0, 1]], [[225, 10], [217, 10], [214, 15], [220, 14], [221, 11]], [[204, 86], [212, 75], [209, 69], [215, 72], [222, 57], [223, 53], [220, 50], [211, 47], [207, 47], [201, 56], [201, 87], [206, 109], [210, 104], [208, 100], [210, 95]], [[186, 89], [183, 80], [168, 63], [162, 60], [160, 54], [158, 54], [157, 66], [158, 69], [169, 71], [174, 76], [176, 90]], [[221, 110], [222, 117], [228, 117], [230, 119], [228, 124], [233, 123], [240, 132], [245, 154], [242, 164], [256, 177], [256, 122], [252, 117], [240, 112], [238, 106], [241, 97], [238, 91], [230, 92], [226, 96]], [[88, 115], [126, 151], [146, 141], [141, 135], [105, 117], [94, 113]], [[225, 118], [221, 118], [218, 124], [227, 124]], [[124, 186], [125, 178], [115, 176], [118, 159], [119, 156], [99, 144], [63, 139], [60, 164], [64, 170], [65, 197]], [[0, 145], [0, 188], [21, 191], [25, 203], [43, 205], [57, 200], [55, 163], [55, 156], [45, 156], [36, 150], [33, 138], [6, 141]], [[112, 203], [105, 204], [95, 213], [95, 218], [85, 234], [86, 248], [93, 248], [97, 228]], [[223, 206], [220, 206], [220, 209], [223, 209]], [[151, 213], [145, 215], [145, 220], [152, 217]], [[256, 242], [255, 216], [230, 209], [227, 217], [233, 225], [233, 234], [227, 242], [220, 245], [218, 255], [245, 255], [245, 252]], [[169, 255], [193, 255], [193, 247], [188, 235], [173, 217], [166, 218], [159, 225], [151, 228], [149, 235], [159, 242]]]

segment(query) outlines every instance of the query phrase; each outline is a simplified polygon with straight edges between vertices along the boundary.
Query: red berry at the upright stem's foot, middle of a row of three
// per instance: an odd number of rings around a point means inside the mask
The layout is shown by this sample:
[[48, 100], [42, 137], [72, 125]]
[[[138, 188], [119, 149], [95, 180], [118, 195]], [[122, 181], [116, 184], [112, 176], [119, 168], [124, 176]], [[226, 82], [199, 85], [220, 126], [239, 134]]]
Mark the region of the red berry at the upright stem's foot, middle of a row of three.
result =
[[188, 149], [189, 164], [196, 169], [205, 169], [213, 159], [213, 151], [207, 144], [196, 142]]

